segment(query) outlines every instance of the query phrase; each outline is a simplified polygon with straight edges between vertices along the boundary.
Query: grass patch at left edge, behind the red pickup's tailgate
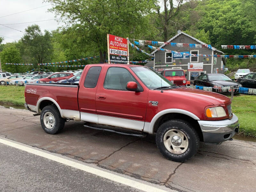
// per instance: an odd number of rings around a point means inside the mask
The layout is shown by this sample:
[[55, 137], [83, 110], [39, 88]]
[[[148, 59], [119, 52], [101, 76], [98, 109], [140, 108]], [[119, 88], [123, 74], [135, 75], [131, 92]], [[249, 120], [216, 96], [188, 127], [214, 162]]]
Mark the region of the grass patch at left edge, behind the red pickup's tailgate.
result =
[[24, 106], [24, 86], [0, 85], [0, 102], [10, 103], [13, 105]]

